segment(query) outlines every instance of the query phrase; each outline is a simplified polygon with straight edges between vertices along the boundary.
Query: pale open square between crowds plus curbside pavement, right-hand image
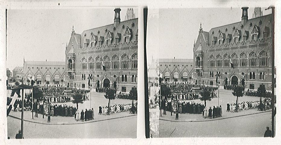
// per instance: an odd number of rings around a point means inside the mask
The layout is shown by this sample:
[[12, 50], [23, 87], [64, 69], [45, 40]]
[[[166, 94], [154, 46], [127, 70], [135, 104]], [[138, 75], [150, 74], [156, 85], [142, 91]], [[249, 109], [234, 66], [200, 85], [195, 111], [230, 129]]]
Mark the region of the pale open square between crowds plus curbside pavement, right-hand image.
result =
[[[257, 111], [257, 108], [239, 111], [239, 112], [227, 112], [226, 104], [235, 103], [236, 97], [233, 95], [230, 95], [230, 93], [228, 93], [228, 92], [220, 92], [219, 94], [220, 94], [219, 98], [213, 98], [211, 101], [207, 101], [207, 108], [209, 109], [209, 107], [212, 107], [212, 109], [213, 109], [213, 106], [218, 106], [218, 99], [219, 99], [219, 105], [221, 105], [223, 108], [222, 117], [209, 119], [209, 118], [204, 118], [202, 114], [185, 113], [185, 114], [178, 114], [178, 120], [175, 120], [175, 114], [172, 113], [172, 116], [171, 116], [171, 112], [167, 111], [166, 112], [167, 115], [162, 114], [162, 116], [159, 116], [159, 119], [170, 120], [170, 121], [207, 121], [207, 120], [216, 120], [216, 119], [221, 119], [221, 118], [228, 118], [228, 117], [235, 117], [235, 116], [263, 112], [263, 111]], [[257, 101], [257, 100], [259, 100], [259, 97], [243, 96], [243, 97], [238, 98], [239, 102]], [[192, 100], [192, 101], [204, 104], [204, 101], [200, 101], [200, 99], [196, 99], [196, 100]], [[271, 111], [271, 109], [267, 110], [267, 111]], [[160, 111], [159, 111], [159, 113], [160, 113]], [[162, 110], [162, 113], [163, 113], [163, 110]]]

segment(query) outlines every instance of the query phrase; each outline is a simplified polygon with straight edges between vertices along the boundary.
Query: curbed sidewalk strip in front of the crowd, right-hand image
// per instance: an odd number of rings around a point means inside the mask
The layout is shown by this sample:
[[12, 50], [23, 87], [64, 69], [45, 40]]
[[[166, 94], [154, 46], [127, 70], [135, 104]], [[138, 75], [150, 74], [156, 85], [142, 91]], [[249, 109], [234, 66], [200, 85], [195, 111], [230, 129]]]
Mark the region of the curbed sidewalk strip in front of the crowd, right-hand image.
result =
[[[159, 116], [160, 120], [166, 120], [166, 121], [175, 121], [175, 122], [200, 122], [200, 121], [214, 121], [214, 120], [219, 120], [219, 119], [226, 119], [226, 118], [234, 118], [234, 117], [239, 117], [239, 116], [245, 116], [245, 115], [251, 115], [251, 114], [258, 114], [258, 113], [264, 113], [264, 112], [269, 112], [271, 109], [266, 110], [266, 111], [257, 111], [257, 108], [254, 109], [249, 109], [249, 110], [244, 110], [244, 111], [239, 111], [239, 112], [224, 112], [222, 114], [222, 117], [218, 118], [204, 118], [202, 114], [178, 114], [178, 120], [175, 120], [175, 113], [167, 111], [166, 114], [162, 114], [162, 116]], [[160, 113], [160, 111], [159, 111]], [[163, 113], [163, 110], [162, 110]]]

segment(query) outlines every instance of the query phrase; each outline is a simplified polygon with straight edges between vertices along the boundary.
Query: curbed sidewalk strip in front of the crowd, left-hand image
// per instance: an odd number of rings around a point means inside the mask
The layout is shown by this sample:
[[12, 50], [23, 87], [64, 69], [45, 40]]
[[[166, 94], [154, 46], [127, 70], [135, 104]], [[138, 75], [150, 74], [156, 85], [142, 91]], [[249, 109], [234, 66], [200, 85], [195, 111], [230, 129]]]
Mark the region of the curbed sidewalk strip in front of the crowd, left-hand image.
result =
[[[40, 124], [83, 124], [83, 123], [90, 123], [90, 122], [97, 122], [97, 121], [104, 121], [116, 118], [124, 118], [129, 116], [135, 116], [137, 114], [129, 114], [130, 111], [120, 112], [116, 114], [110, 115], [99, 115], [98, 112], [95, 112], [95, 117], [93, 120], [90, 121], [76, 121], [74, 117], [63, 117], [63, 116], [51, 116], [51, 122], [47, 122], [48, 117], [42, 114], [38, 114], [37, 117], [33, 117], [32, 119], [32, 112], [31, 111], [24, 111], [24, 121], [40, 123]], [[35, 112], [33, 112], [35, 115]], [[21, 112], [19, 111], [11, 111], [9, 114], [10, 117], [21, 119]]]

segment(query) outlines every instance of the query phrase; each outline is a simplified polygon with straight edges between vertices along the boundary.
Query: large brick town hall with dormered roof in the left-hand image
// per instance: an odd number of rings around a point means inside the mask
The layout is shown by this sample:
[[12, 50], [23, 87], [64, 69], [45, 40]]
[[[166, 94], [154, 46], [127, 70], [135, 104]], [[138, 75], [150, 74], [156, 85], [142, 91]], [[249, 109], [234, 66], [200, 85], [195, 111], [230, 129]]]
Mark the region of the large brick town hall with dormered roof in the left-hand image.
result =
[[[130, 92], [137, 87], [138, 18], [121, 21], [115, 8], [114, 23], [76, 34], [72, 29], [65, 49], [66, 85], [112, 88]], [[106, 70], [103, 70], [102, 61]]]

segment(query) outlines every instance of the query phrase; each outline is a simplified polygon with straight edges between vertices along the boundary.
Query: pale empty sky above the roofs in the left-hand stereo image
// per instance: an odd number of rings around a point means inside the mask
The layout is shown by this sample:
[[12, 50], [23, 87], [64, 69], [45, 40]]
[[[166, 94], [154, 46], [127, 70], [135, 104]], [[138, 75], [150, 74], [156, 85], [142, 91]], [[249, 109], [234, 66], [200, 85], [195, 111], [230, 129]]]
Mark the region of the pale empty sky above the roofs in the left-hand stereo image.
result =
[[[7, 68], [25, 61], [65, 61], [72, 26], [77, 34], [113, 24], [114, 8], [32, 9], [7, 11]], [[125, 21], [127, 8], [121, 8]], [[138, 10], [134, 8], [136, 18]]]

